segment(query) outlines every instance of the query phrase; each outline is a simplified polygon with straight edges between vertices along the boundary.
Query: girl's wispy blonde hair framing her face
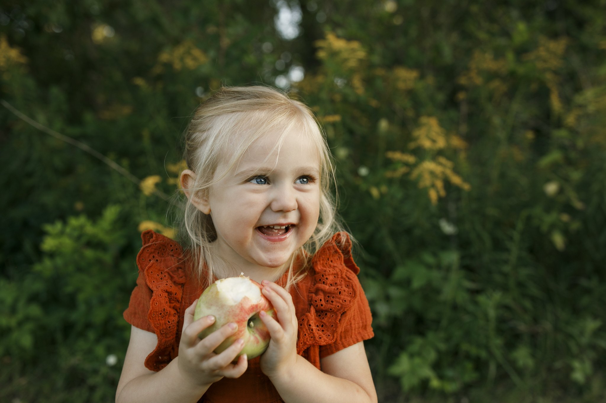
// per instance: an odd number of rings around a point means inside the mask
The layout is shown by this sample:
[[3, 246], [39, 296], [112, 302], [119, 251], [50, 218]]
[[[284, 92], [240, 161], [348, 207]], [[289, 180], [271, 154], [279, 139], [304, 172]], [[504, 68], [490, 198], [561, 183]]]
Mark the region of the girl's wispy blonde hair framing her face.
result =
[[[298, 126], [297, 126], [298, 125]], [[336, 214], [335, 168], [330, 150], [316, 122], [313, 112], [303, 103], [289, 98], [276, 89], [265, 86], [224, 87], [216, 91], [196, 109], [184, 136], [184, 160], [196, 174], [195, 182], [187, 189], [192, 195], [207, 196], [210, 187], [231, 172], [242, 156], [258, 138], [280, 129], [282, 137], [276, 143], [279, 150], [284, 137], [295, 126], [314, 144], [320, 158], [320, 209], [318, 225], [310, 239], [293, 254], [288, 267], [287, 289], [305, 276], [305, 268], [313, 254], [339, 231], [343, 231]], [[228, 169], [216, 177], [219, 162], [228, 157]], [[220, 259], [213, 256], [211, 243], [216, 231], [210, 214], [204, 214], [185, 200], [179, 222], [181, 243], [191, 251], [195, 271], [202, 278], [207, 273], [207, 285], [213, 282]], [[295, 263], [303, 262], [294, 271]]]

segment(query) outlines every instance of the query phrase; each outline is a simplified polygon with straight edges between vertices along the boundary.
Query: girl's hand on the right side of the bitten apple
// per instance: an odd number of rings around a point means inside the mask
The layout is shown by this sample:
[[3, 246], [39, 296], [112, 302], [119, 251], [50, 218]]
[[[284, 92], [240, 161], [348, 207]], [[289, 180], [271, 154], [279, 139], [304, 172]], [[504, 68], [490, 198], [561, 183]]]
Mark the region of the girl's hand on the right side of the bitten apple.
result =
[[261, 355], [262, 372], [270, 379], [276, 375], [290, 373], [297, 361], [297, 318], [293, 298], [276, 283], [263, 280], [262, 292], [270, 300], [278, 316], [278, 321], [261, 312], [261, 320], [269, 330], [269, 347]]

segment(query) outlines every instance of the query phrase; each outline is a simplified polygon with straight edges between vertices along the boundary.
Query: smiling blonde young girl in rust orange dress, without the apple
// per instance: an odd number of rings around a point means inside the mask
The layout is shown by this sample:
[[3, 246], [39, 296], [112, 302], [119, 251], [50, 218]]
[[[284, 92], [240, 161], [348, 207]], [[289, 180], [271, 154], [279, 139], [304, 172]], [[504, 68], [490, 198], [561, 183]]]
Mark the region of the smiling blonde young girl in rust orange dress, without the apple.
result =
[[[363, 344], [370, 309], [310, 109], [263, 86], [222, 88], [185, 140], [188, 248], [142, 233], [116, 402], [376, 402]], [[261, 313], [271, 341], [250, 361], [235, 361], [242, 340], [213, 353], [235, 323], [200, 340], [214, 318], [193, 321], [205, 287], [241, 272], [277, 314]]]

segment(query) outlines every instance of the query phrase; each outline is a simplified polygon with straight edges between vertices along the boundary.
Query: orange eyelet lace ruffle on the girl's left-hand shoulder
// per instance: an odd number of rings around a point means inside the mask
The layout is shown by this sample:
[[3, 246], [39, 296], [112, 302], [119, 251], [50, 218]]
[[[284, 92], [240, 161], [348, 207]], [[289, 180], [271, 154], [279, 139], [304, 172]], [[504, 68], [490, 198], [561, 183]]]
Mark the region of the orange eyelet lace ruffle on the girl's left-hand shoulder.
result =
[[174, 341], [185, 283], [183, 250], [174, 240], [152, 230], [144, 231], [141, 239], [137, 264], [152, 292], [147, 319], [158, 337], [156, 349], [145, 358], [145, 367], [159, 371], [178, 353]]

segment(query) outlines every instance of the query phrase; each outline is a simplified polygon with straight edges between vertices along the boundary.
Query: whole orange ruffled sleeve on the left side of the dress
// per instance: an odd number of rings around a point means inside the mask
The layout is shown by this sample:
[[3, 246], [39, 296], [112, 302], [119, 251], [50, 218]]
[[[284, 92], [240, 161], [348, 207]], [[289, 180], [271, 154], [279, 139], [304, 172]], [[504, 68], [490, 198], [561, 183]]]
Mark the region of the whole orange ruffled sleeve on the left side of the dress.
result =
[[179, 311], [185, 283], [181, 245], [152, 230], [141, 234], [143, 247], [137, 255], [139, 277], [124, 319], [158, 337], [156, 349], [145, 367], [159, 371], [178, 354]]

